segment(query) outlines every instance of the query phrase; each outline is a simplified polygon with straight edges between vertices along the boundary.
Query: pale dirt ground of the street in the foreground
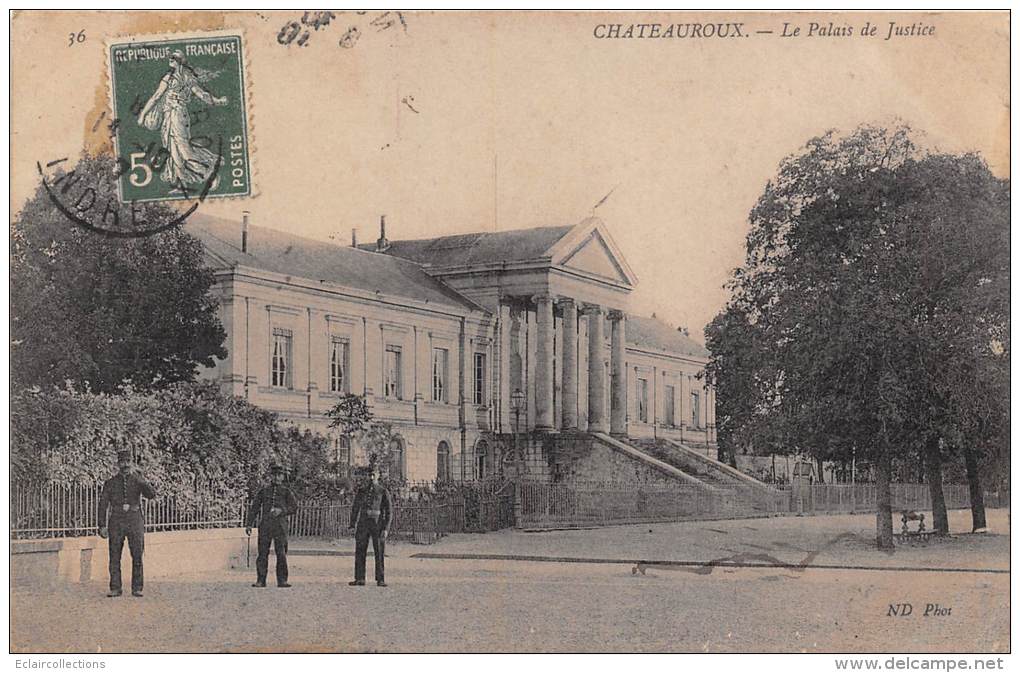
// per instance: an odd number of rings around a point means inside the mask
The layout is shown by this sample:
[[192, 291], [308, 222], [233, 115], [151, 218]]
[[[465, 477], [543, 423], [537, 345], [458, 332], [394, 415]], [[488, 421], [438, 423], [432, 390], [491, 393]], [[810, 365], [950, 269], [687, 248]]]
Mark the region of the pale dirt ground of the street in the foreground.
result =
[[[251, 588], [253, 573], [237, 570], [153, 580], [141, 600], [106, 599], [103, 581], [15, 591], [11, 649], [1006, 652], [1009, 574], [988, 571], [1009, 569], [1009, 522], [1006, 511], [989, 518], [992, 534], [960, 534], [892, 554], [872, 549], [872, 516], [455, 535], [428, 547], [391, 545], [386, 588], [347, 585], [353, 559], [343, 554], [350, 540], [294, 540], [295, 551], [309, 555], [292, 556], [289, 589]], [[968, 513], [952, 513], [951, 525], [969, 529]], [[631, 563], [596, 562], [611, 559], [775, 559], [794, 566], [807, 560], [812, 567], [693, 564], [635, 574]], [[829, 565], [876, 569], [815, 567]], [[912, 613], [889, 616], [890, 605], [901, 604]]]

